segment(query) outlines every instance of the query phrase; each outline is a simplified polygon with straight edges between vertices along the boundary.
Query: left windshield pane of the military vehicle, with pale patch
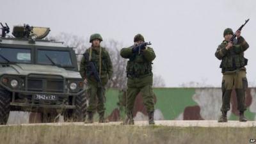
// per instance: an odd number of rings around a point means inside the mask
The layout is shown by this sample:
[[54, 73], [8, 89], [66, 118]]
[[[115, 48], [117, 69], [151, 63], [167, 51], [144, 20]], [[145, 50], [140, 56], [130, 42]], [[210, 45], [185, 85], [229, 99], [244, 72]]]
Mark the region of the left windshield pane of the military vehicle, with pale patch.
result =
[[0, 48], [1, 63], [31, 63], [31, 49]]

